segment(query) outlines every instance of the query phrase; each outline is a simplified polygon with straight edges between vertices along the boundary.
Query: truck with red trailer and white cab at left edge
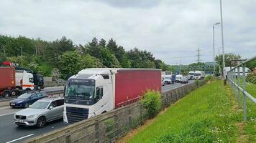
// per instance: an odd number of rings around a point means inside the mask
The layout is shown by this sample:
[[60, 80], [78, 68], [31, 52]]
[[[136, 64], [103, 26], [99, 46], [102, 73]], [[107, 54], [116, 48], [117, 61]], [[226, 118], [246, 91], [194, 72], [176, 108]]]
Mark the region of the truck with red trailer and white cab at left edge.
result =
[[38, 87], [38, 82], [35, 82], [36, 79], [32, 73], [27, 71], [17, 73], [12, 66], [0, 67], [0, 79], [1, 97], [17, 96], [26, 90], [33, 90]]

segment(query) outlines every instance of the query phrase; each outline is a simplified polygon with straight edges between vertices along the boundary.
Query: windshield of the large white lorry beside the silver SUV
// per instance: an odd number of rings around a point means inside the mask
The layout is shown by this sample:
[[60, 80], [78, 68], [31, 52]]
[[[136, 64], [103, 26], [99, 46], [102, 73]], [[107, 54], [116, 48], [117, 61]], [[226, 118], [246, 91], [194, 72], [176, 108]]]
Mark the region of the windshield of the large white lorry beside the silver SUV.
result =
[[95, 92], [94, 79], [70, 79], [65, 90], [65, 99], [93, 101]]

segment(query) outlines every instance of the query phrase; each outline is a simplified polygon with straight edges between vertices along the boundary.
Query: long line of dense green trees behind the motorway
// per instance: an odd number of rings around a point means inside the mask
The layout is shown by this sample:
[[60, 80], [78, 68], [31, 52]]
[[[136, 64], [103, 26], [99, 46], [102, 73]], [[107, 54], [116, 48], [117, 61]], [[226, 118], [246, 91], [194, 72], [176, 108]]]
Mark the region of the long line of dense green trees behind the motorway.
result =
[[112, 38], [106, 41], [95, 37], [86, 44], [76, 45], [65, 36], [45, 41], [0, 35], [0, 61], [12, 61], [44, 76], [58, 69], [64, 79], [91, 67], [168, 69], [150, 51], [138, 48], [126, 51]]

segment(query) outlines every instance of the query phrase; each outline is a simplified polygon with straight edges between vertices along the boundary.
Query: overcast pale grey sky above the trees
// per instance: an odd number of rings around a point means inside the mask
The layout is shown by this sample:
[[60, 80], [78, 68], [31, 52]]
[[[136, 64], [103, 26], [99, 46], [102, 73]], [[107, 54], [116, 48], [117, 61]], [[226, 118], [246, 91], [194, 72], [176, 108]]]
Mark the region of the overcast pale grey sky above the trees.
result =
[[[256, 1], [223, 0], [224, 47], [256, 55]], [[67, 36], [86, 44], [113, 37], [125, 49], [146, 49], [167, 64], [213, 61], [219, 0], [0, 0], [0, 34], [47, 41]], [[221, 28], [216, 26], [216, 53]]]

